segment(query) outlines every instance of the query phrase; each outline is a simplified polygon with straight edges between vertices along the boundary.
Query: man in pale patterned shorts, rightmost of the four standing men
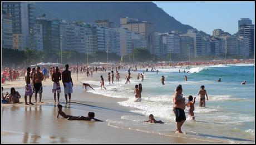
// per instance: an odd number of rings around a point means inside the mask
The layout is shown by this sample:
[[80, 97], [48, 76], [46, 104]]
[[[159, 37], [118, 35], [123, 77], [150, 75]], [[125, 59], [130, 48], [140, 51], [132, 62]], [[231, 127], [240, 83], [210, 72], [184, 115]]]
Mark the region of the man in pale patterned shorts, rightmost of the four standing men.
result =
[[68, 71], [68, 64], [65, 65], [66, 70], [62, 72], [62, 82], [64, 86], [64, 92], [65, 92], [65, 98], [66, 98], [66, 103], [67, 103], [67, 94], [68, 98], [71, 101], [71, 93], [73, 93], [73, 81], [71, 78], [71, 72]]

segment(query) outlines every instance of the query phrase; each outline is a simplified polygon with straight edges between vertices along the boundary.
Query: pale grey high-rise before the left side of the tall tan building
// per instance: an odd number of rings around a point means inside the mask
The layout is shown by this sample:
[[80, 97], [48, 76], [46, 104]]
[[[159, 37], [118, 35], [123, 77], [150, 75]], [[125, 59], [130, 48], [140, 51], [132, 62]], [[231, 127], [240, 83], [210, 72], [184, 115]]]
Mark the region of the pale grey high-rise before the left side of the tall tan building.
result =
[[119, 56], [125, 56], [132, 52], [132, 41], [131, 41], [131, 31], [126, 28], [115, 28], [120, 36], [120, 53]]

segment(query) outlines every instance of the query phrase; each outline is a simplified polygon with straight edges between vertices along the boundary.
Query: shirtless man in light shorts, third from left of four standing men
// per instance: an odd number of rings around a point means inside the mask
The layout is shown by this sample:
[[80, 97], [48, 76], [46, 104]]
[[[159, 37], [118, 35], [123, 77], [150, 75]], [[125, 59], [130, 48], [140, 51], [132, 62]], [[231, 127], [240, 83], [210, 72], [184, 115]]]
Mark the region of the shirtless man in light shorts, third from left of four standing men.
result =
[[56, 92], [57, 92], [57, 97], [58, 97], [58, 102], [60, 102], [60, 93], [61, 93], [61, 73], [58, 72], [59, 69], [56, 67], [55, 72], [52, 73], [52, 93], [54, 97], [54, 101], [56, 103]]

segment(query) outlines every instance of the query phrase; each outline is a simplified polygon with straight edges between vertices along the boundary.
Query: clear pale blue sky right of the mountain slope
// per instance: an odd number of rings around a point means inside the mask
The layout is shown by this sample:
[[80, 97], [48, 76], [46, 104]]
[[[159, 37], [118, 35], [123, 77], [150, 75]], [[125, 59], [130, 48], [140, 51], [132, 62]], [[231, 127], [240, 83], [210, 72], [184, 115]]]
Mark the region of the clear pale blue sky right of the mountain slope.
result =
[[213, 29], [238, 32], [238, 20], [250, 18], [253, 24], [255, 2], [154, 2], [177, 21], [212, 34]]

